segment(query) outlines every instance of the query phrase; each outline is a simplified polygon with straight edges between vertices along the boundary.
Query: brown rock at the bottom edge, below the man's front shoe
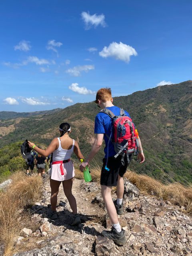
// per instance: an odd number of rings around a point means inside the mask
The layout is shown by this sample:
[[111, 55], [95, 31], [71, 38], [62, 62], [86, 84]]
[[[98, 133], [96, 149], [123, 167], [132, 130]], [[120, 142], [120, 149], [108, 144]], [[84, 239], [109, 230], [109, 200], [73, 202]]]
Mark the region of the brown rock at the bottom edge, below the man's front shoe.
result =
[[98, 236], [96, 238], [95, 254], [96, 256], [107, 255], [106, 252], [110, 253], [113, 251], [114, 242], [105, 236]]

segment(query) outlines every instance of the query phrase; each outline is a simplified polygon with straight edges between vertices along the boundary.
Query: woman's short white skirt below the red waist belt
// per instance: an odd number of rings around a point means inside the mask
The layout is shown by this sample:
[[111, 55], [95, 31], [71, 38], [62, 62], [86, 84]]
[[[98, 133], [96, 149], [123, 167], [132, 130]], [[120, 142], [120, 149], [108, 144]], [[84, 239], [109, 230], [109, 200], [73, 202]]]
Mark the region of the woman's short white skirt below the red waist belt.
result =
[[75, 169], [73, 166], [73, 162], [70, 160], [67, 163], [63, 163], [63, 172], [60, 169], [61, 164], [52, 164], [50, 170], [50, 178], [52, 180], [64, 181], [70, 180], [75, 176]]

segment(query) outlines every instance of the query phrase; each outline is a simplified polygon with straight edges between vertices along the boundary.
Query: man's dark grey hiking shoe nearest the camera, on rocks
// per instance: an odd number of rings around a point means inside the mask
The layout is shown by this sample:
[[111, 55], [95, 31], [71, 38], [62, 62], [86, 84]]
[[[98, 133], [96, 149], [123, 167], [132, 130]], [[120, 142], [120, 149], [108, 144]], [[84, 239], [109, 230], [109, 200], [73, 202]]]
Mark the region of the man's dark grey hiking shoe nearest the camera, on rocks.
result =
[[116, 229], [112, 227], [111, 230], [104, 230], [101, 232], [101, 234], [102, 236], [106, 236], [107, 238], [112, 239], [117, 245], [124, 245], [127, 242], [123, 229], [121, 232], [117, 232]]

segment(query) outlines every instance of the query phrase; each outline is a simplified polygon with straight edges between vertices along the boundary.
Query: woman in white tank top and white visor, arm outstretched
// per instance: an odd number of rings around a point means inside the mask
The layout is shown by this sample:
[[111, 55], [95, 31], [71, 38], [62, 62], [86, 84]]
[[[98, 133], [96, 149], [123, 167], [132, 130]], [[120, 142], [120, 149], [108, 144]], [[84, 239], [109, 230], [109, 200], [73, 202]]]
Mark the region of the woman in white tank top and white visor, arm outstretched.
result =
[[38, 148], [34, 143], [28, 141], [30, 148], [33, 148], [38, 154], [46, 157], [53, 153], [53, 162], [50, 170], [50, 186], [51, 186], [51, 210], [52, 219], [57, 218], [56, 204], [59, 186], [62, 182], [64, 193], [69, 201], [74, 214], [74, 221], [71, 225], [75, 226], [81, 223], [77, 214], [76, 199], [72, 194], [72, 184], [74, 173], [74, 165], [70, 160], [74, 152], [79, 159], [84, 159], [78, 143], [70, 138], [71, 127], [68, 123], [62, 123], [59, 126], [60, 137], [54, 138], [50, 145], [45, 149]]

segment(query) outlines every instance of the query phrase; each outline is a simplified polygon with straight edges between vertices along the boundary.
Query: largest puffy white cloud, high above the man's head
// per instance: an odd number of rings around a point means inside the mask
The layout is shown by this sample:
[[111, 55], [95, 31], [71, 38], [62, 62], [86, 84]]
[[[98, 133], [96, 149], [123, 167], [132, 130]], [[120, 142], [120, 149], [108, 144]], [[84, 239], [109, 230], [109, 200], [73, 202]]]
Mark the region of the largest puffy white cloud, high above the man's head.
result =
[[130, 56], [137, 56], [136, 50], [127, 44], [120, 42], [112, 42], [108, 47], [105, 46], [99, 55], [103, 58], [113, 57], [116, 60], [122, 60], [124, 62], [130, 61]]

